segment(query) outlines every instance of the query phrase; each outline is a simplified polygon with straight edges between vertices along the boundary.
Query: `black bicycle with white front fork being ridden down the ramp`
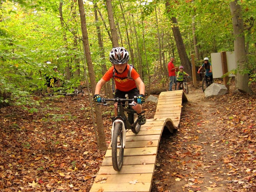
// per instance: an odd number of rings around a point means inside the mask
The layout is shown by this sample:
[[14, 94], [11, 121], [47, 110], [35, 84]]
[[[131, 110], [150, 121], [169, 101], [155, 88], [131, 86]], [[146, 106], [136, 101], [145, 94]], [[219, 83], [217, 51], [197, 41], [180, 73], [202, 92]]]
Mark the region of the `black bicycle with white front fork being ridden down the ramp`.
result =
[[[135, 106], [137, 104], [135, 103], [136, 98], [137, 97], [134, 97], [133, 99], [102, 98], [101, 103], [103, 104], [98, 104], [108, 106], [117, 103], [117, 116], [111, 117], [113, 122], [111, 129], [112, 165], [115, 171], [120, 171], [123, 165], [126, 132], [128, 131], [128, 129], [131, 129], [132, 132], [135, 134], [140, 131], [137, 112], [132, 109], [132, 106]], [[113, 103], [107, 103], [107, 101], [113, 101]], [[128, 117], [125, 115], [125, 112], [127, 113]]]

